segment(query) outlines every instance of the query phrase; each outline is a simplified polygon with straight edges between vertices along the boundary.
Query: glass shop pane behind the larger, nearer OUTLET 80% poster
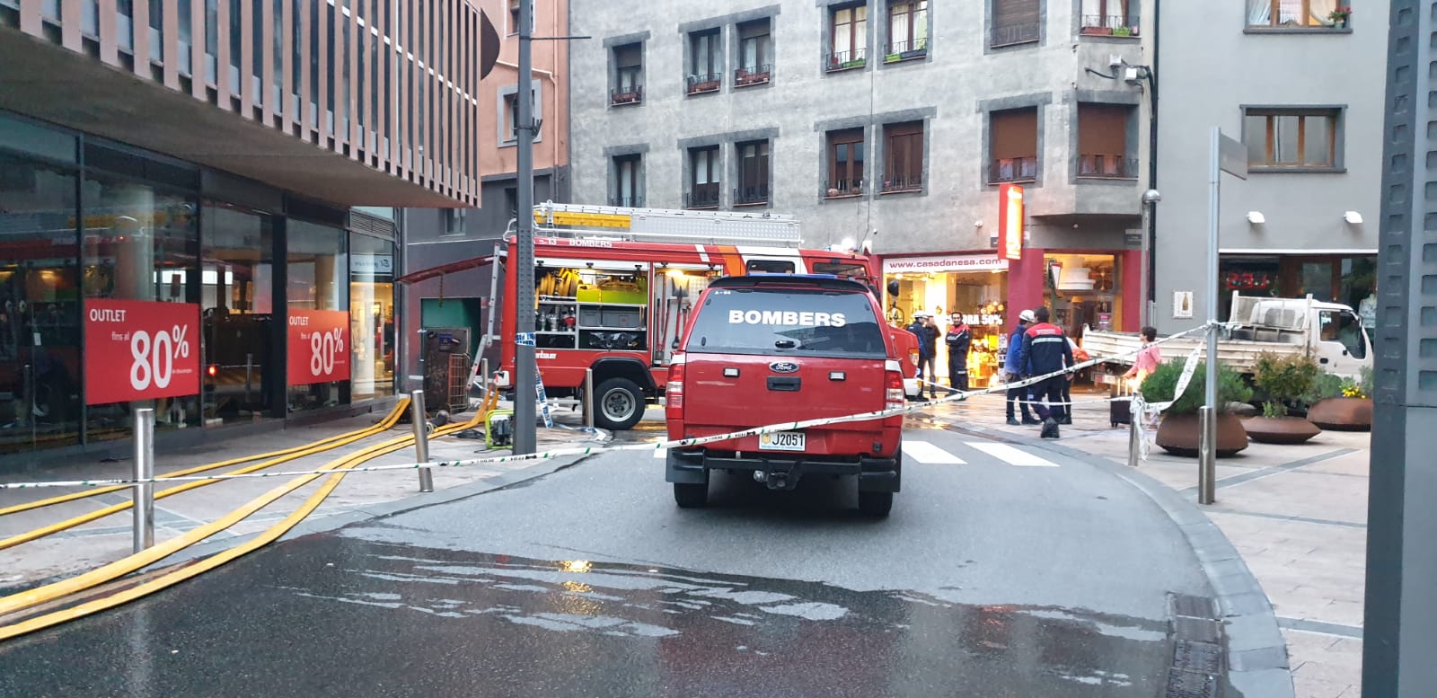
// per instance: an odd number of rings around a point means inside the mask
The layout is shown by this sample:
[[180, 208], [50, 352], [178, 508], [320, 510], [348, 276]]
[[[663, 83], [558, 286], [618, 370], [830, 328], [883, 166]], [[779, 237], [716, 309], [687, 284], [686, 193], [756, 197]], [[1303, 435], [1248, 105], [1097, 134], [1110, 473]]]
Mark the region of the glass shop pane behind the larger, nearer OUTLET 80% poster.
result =
[[[200, 284], [195, 283], [198, 201], [102, 174], [86, 175], [83, 201], [82, 273], [86, 300], [200, 302]], [[198, 332], [200, 327], [181, 327], [164, 343], [158, 335], [145, 332], [144, 345], [132, 342], [126, 349], [132, 353], [137, 346], [148, 346], [149, 350], [141, 350], [151, 353], [165, 346], [168, 356], [158, 352], [142, 360], [122, 353], [114, 358], [114, 368], [141, 376], [144, 383], [168, 383], [175, 378], [175, 365], [182, 363], [180, 359], [200, 350]], [[114, 350], [99, 346], [86, 349]], [[138, 372], [134, 371], [135, 362], [142, 362]], [[200, 395], [111, 404], [96, 404], [86, 396], [86, 402], [91, 441], [129, 437], [135, 409], [139, 408], [155, 411], [157, 429], [198, 427], [201, 421]]]

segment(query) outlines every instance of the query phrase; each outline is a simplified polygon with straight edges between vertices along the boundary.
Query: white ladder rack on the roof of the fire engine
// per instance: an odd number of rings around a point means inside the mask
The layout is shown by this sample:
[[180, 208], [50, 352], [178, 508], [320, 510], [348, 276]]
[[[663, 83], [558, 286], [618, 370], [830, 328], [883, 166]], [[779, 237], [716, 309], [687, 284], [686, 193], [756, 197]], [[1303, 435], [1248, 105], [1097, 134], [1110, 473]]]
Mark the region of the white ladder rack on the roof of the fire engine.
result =
[[618, 205], [535, 205], [535, 233], [552, 237], [642, 240], [651, 243], [799, 247], [799, 221], [773, 213], [690, 211]]

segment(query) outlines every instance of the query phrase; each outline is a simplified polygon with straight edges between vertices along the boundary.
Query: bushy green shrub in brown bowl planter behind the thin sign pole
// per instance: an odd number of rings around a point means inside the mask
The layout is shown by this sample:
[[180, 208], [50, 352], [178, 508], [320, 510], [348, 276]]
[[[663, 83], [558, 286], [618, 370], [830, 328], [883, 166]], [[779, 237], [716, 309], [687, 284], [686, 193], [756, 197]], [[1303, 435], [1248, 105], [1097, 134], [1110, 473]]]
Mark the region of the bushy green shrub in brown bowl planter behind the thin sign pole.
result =
[[[1174, 399], [1178, 378], [1183, 375], [1183, 362], [1173, 360], [1163, 363], [1145, 381], [1142, 381], [1142, 399], [1147, 402], [1167, 402]], [[1204, 382], [1207, 379], [1207, 365], [1198, 363], [1193, 372], [1193, 379], [1187, 383], [1183, 395], [1178, 395], [1173, 405], [1163, 414], [1163, 424], [1158, 427], [1157, 444], [1174, 455], [1197, 455], [1201, 438], [1197, 409], [1203, 406]], [[1234, 402], [1247, 402], [1253, 391], [1243, 382], [1243, 378], [1223, 363], [1217, 365], [1217, 455], [1227, 458], [1247, 448], [1247, 431], [1242, 419], [1229, 411]]]

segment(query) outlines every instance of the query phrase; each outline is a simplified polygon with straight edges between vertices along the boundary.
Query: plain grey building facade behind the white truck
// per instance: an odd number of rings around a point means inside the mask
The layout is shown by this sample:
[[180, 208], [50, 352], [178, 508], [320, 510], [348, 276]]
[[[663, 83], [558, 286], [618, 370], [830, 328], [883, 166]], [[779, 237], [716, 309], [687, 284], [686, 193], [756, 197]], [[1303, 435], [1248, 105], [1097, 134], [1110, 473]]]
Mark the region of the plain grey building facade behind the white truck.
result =
[[[1372, 327], [1388, 11], [1385, 0], [1163, 6], [1160, 330], [1200, 325], [1210, 283], [1220, 319], [1233, 292], [1311, 293], [1351, 304]], [[1246, 145], [1249, 167], [1246, 181], [1223, 175], [1216, 280], [1198, 263], [1213, 126]], [[1325, 320], [1323, 332], [1341, 332], [1342, 317]]]

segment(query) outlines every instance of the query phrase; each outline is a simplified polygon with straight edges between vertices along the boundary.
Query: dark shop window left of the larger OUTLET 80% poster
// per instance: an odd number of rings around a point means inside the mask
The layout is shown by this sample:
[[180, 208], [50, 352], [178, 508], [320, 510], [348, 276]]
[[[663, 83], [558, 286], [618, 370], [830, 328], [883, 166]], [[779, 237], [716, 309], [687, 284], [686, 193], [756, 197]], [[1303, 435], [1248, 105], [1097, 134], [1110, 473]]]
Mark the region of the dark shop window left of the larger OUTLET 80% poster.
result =
[[0, 155], [0, 454], [79, 442], [75, 174]]

